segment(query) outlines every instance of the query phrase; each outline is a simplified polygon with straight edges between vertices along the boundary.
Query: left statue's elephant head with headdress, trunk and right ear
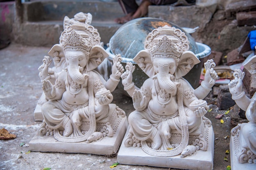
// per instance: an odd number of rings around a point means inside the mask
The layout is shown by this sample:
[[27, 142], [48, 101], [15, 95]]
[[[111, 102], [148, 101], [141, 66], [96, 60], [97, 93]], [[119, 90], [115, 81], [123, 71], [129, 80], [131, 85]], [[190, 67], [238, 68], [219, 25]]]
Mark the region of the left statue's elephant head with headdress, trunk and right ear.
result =
[[[89, 18], [89, 19], [88, 19]], [[67, 22], [61, 33], [60, 45], [65, 53], [67, 71], [76, 83], [85, 81], [87, 72], [97, 68], [108, 57], [106, 50], [100, 46], [99, 33], [90, 25], [91, 15], [78, 13], [72, 22]]]

